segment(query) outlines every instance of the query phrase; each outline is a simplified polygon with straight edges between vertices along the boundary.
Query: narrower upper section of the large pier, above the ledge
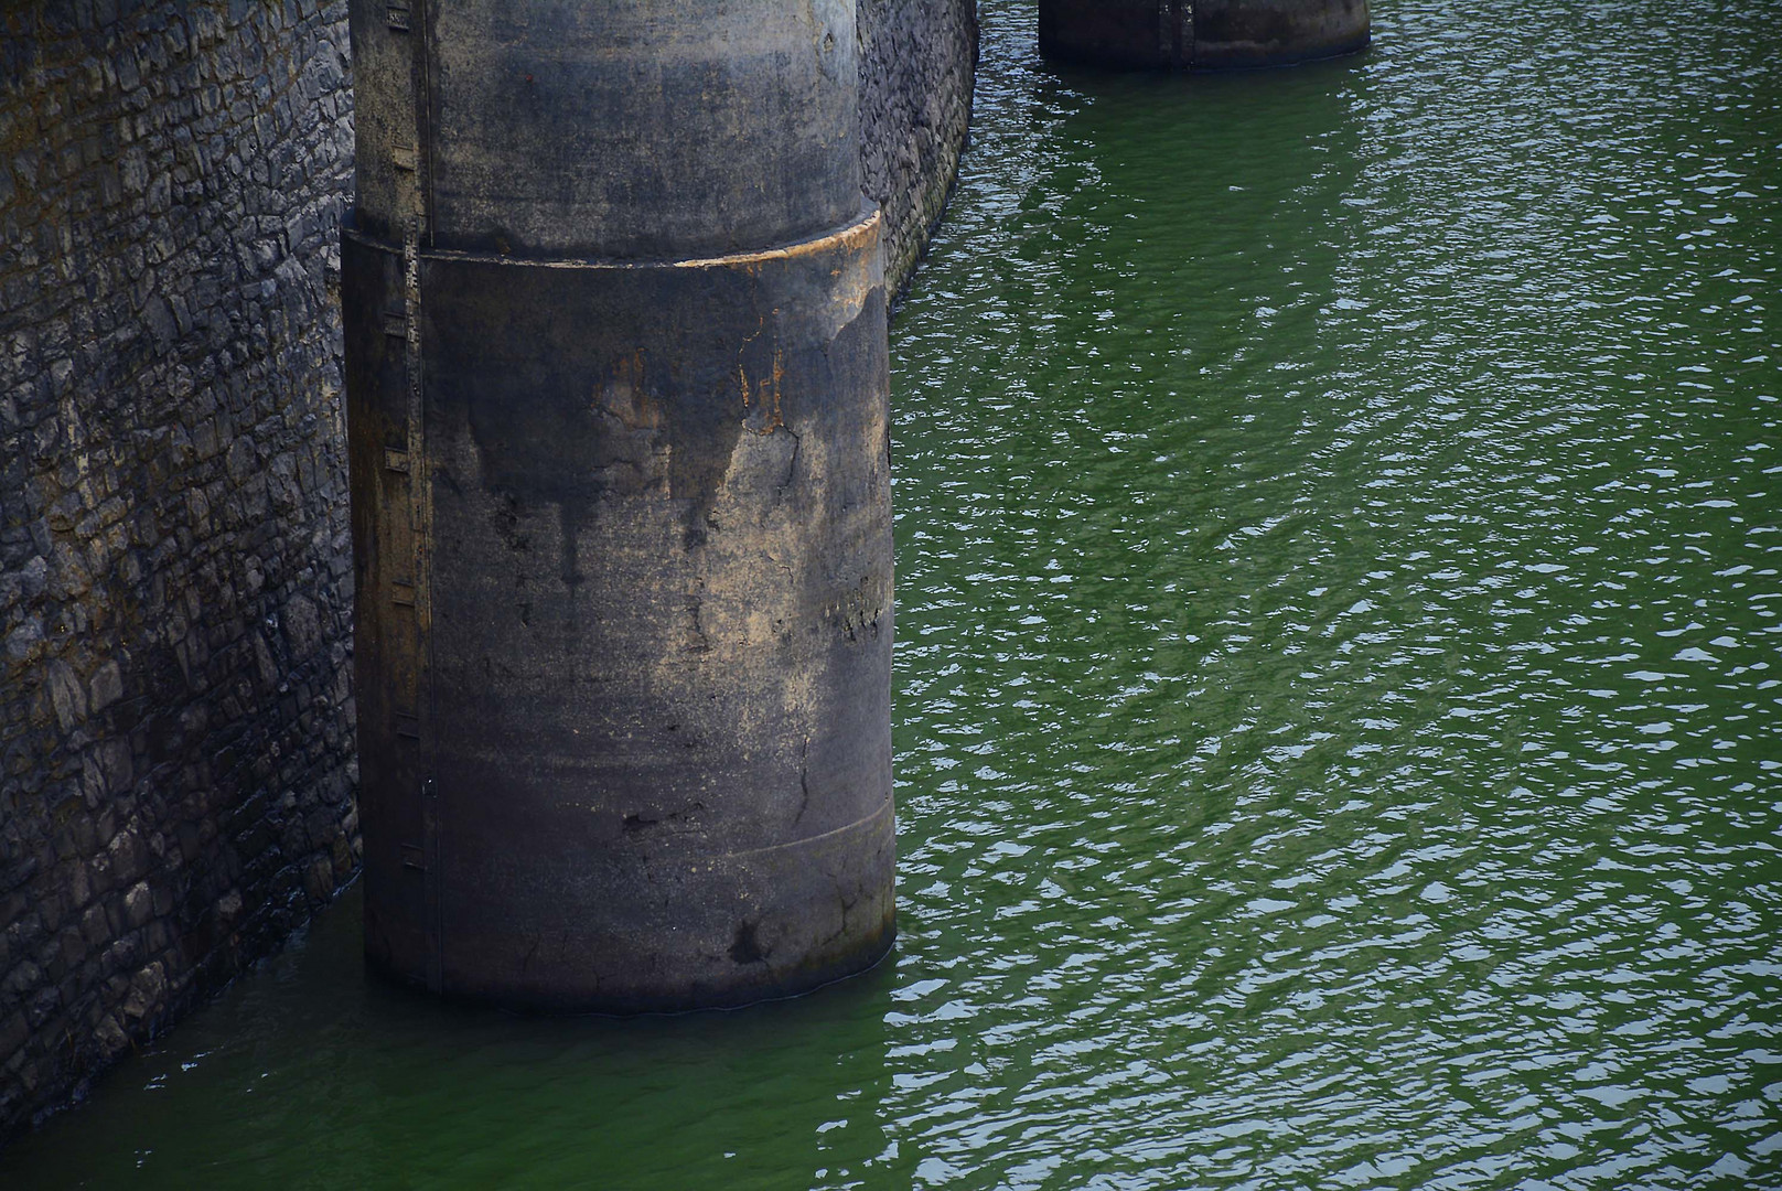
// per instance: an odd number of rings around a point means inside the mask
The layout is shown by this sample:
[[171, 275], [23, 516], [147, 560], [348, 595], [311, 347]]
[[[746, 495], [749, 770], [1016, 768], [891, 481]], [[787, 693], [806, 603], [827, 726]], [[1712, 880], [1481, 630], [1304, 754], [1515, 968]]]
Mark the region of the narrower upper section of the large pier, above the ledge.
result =
[[[356, 212], [374, 235], [390, 235], [390, 137], [413, 102], [390, 59], [422, 37], [390, 30], [387, 7], [353, 7]], [[422, 12], [435, 246], [661, 260], [805, 239], [859, 209], [850, 0]]]

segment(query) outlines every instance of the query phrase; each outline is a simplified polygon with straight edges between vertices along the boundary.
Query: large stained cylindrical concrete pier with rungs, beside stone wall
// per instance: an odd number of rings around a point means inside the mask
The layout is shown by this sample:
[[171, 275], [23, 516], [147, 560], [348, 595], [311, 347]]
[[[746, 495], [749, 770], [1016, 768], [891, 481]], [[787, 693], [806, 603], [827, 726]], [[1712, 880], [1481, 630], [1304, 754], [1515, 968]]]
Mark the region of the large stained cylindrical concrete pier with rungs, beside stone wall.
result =
[[355, 0], [371, 963], [592, 1011], [893, 938], [854, 5]]

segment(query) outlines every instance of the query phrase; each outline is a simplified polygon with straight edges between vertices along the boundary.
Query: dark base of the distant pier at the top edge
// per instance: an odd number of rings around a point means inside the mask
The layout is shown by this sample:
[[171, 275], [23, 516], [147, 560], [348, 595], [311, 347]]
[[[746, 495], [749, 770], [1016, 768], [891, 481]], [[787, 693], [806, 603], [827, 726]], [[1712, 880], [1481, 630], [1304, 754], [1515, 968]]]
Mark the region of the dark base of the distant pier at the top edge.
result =
[[1041, 0], [1048, 55], [1133, 70], [1287, 66], [1367, 46], [1367, 0]]

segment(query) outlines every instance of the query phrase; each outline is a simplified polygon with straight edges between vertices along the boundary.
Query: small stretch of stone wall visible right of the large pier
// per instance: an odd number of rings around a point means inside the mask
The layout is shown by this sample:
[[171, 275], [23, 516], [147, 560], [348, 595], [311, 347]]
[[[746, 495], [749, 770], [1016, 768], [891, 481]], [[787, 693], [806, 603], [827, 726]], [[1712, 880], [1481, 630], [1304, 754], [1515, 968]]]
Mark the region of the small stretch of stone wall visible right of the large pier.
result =
[[884, 209], [886, 283], [909, 280], [971, 121], [977, 0], [859, 0], [861, 182]]

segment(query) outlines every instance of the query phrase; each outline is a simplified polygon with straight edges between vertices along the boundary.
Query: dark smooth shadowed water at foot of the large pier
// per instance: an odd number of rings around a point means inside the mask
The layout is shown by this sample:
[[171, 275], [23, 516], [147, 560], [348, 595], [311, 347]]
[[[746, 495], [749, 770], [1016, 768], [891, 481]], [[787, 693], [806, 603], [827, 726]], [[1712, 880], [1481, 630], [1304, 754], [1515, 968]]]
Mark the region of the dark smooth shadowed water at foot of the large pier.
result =
[[[786, 1187], [895, 1180], [895, 959], [797, 1000], [515, 1016], [367, 975], [360, 895], [0, 1155], [9, 1187]], [[905, 1177], [907, 1182], [907, 1177]]]

